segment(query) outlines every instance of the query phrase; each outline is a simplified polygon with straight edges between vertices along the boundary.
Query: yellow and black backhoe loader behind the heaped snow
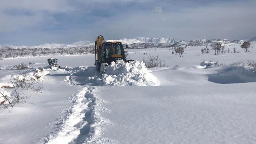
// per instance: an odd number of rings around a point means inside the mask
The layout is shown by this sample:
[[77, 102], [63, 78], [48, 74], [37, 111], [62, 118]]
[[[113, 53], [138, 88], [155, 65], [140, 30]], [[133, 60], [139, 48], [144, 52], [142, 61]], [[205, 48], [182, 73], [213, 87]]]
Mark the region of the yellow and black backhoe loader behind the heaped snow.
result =
[[[128, 48], [128, 44], [125, 45]], [[127, 60], [122, 42], [105, 41], [102, 35], [99, 35], [95, 41], [95, 66], [101, 72], [102, 66], [110, 65], [111, 62], [123, 60], [125, 63], [134, 61]], [[97, 55], [97, 59], [96, 59]]]

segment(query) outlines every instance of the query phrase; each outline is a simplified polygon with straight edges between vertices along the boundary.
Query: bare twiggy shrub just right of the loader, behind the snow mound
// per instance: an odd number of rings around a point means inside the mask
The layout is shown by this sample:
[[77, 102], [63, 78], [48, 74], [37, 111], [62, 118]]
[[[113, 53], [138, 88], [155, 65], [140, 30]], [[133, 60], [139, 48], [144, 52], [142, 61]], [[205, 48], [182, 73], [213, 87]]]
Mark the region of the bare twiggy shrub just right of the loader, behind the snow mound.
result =
[[145, 66], [147, 68], [155, 68], [155, 67], [165, 67], [165, 61], [162, 61], [159, 59], [159, 56], [157, 55], [156, 57], [154, 55], [148, 55], [148, 59], [145, 60], [144, 57], [143, 62], [145, 63]]

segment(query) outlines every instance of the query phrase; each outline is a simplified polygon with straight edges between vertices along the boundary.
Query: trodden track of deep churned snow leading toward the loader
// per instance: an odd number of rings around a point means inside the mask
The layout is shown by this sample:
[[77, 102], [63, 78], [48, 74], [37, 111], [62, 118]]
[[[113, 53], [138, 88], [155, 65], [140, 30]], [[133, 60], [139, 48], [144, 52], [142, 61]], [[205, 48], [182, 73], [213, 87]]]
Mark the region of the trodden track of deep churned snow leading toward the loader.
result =
[[63, 120], [61, 128], [46, 137], [46, 144], [76, 144], [83, 142], [114, 143], [113, 140], [102, 138], [102, 126], [109, 121], [102, 118], [99, 112], [106, 111], [101, 100], [95, 94], [94, 87], [83, 87], [76, 95], [70, 114]]

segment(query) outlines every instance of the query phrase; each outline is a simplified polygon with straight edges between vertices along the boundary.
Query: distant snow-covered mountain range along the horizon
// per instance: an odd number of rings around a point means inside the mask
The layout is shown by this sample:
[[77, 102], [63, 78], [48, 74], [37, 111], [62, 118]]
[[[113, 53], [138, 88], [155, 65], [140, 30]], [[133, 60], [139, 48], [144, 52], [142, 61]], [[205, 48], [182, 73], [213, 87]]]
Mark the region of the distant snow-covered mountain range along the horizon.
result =
[[[250, 41], [255, 41], [256, 37], [252, 38]], [[181, 41], [180, 39], [174, 38], [146, 38], [146, 37], [136, 37], [134, 39], [119, 39], [119, 40], [108, 40], [108, 41], [121, 41], [122, 44], [128, 44], [129, 48], [154, 48], [154, 47], [177, 47], [177, 46], [198, 46], [209, 44], [213, 42], [221, 42], [223, 44], [229, 43], [241, 43], [243, 40], [234, 40], [234, 39], [199, 39], [199, 40], [190, 40], [190, 41]], [[6, 45], [1, 46], [0, 48], [11, 48], [11, 49], [20, 49], [20, 48], [93, 48], [94, 42], [91, 41], [78, 41], [72, 44], [56, 44], [56, 43], [46, 43], [39, 46], [12, 46]]]

